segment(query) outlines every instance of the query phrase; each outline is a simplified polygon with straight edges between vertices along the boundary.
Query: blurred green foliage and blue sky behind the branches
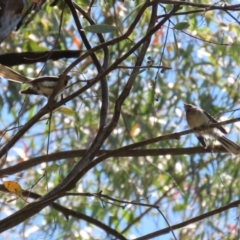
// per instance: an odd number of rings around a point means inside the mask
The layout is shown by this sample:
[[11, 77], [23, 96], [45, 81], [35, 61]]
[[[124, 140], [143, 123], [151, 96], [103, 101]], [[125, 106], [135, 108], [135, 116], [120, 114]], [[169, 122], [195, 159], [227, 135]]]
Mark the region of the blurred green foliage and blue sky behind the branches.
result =
[[[160, 0], [154, 2], [157, 3], [157, 20], [160, 21], [172, 9], [173, 3]], [[32, 2], [28, 1], [27, 4]], [[90, 4], [93, 5], [89, 14], [96, 24], [116, 27], [114, 32], [103, 33], [105, 41], [109, 41], [128, 30], [143, 1], [76, 1], [76, 5], [86, 13]], [[185, 1], [180, 4], [178, 14], [171, 16], [152, 35], [142, 64], [146, 68], [142, 68], [144, 71], [136, 75], [131, 92], [122, 105], [117, 126], [101, 146], [102, 150], [114, 150], [188, 129], [184, 102], [201, 106], [220, 120], [239, 117], [239, 6], [235, 11], [222, 9], [237, 4], [237, 1], [228, 1], [228, 4], [224, 1]], [[129, 38], [109, 46], [109, 66], [146, 35], [151, 11], [151, 6], [146, 8]], [[78, 17], [83, 27], [89, 26], [79, 12]], [[178, 23], [187, 25], [181, 29], [175, 27]], [[85, 34], [92, 47], [100, 44], [95, 33], [85, 31]], [[13, 32], [1, 44], [1, 54], [51, 50], [87, 51], [71, 11], [61, 0], [54, 7], [49, 2], [43, 4], [29, 24]], [[116, 100], [132, 71], [132, 68], [124, 67], [134, 66], [138, 51], [139, 49], [134, 51], [107, 75], [109, 121]], [[97, 51], [96, 56], [102, 63], [103, 51]], [[40, 72], [40, 75], [58, 75], [74, 58], [35, 61], [34, 64], [13, 68], [33, 78]], [[159, 66], [170, 69], [162, 70]], [[69, 73], [72, 77], [71, 84], [64, 96], [82, 88], [87, 84], [86, 80], [93, 79], [97, 74], [91, 58], [84, 59]], [[6, 79], [1, 79], [0, 84], [3, 147], [47, 100], [39, 96], [21, 96], [18, 91], [24, 86]], [[48, 115], [36, 122], [9, 149], [4, 157], [6, 162], [3, 168], [8, 169], [25, 160], [46, 155], [47, 152], [88, 149], [98, 131], [101, 104], [101, 85], [97, 83], [66, 103], [65, 107], [74, 111], [71, 116], [57, 110], [52, 113], [50, 126]], [[239, 123], [226, 127], [231, 131], [229, 138], [239, 142]], [[209, 141], [209, 144], [213, 143]], [[194, 154], [187, 149], [185, 154], [172, 154], [176, 149], [187, 147], [198, 148]], [[129, 204], [87, 195], [65, 196], [56, 202], [103, 222], [126, 239], [134, 239], [239, 199], [238, 156], [224, 152], [198, 152], [201, 147], [193, 134], [182, 136], [179, 140], [160, 141], [140, 149], [170, 150], [168, 154], [159, 156], [110, 157], [89, 170], [72, 191], [102, 191], [102, 194], [120, 201], [129, 201]], [[2, 177], [4, 180], [18, 182], [23, 189], [30, 188], [32, 192], [44, 195], [57, 186], [80, 160], [81, 156], [43, 162]], [[53, 164], [54, 171], [50, 168]], [[41, 178], [45, 168], [47, 173]], [[27, 204], [21, 198], [8, 202], [11, 198], [13, 196], [10, 193], [1, 193], [1, 219]], [[132, 201], [139, 204], [131, 204]], [[153, 205], [159, 207], [168, 223]], [[177, 228], [174, 234], [176, 239], [238, 239], [238, 219], [238, 208], [226, 209]], [[26, 239], [115, 239], [90, 221], [74, 217], [66, 220], [61, 212], [51, 207], [3, 233], [5, 238], [10, 235]], [[159, 236], [159, 239], [174, 239], [173, 232], [169, 231], [168, 234]]]

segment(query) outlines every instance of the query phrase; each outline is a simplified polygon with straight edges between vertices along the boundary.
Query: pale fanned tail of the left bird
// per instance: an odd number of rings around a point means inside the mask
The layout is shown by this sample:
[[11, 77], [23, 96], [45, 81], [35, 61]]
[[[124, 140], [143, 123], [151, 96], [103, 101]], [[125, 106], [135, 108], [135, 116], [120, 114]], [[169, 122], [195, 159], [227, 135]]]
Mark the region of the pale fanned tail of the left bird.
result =
[[27, 77], [24, 77], [20, 73], [13, 71], [11, 68], [8, 68], [1, 64], [0, 64], [0, 76], [10, 81], [18, 83], [28, 83], [31, 80]]

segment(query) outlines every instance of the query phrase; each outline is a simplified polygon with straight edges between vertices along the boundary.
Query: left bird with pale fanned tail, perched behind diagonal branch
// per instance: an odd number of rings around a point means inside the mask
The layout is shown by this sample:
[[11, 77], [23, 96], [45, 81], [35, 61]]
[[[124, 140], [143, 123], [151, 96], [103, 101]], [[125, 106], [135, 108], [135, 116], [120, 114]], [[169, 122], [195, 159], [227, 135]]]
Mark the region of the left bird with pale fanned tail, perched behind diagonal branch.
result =
[[[18, 72], [13, 71], [11, 68], [0, 64], [0, 76], [10, 81], [27, 84], [29, 88], [20, 91], [21, 94], [34, 94], [49, 97], [58, 84], [59, 76], [43, 76], [38, 78], [27, 78]], [[70, 77], [66, 76], [63, 87], [59, 90], [58, 94], [62, 93], [66, 88]], [[57, 95], [58, 95], [57, 94]]]

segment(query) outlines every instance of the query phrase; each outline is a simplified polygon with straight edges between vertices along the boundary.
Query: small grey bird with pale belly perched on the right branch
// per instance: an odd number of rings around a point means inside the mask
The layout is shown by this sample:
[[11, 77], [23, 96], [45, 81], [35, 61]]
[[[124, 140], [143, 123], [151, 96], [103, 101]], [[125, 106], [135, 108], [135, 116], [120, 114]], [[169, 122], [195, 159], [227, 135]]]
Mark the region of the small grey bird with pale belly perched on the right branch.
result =
[[[190, 128], [198, 128], [202, 126], [207, 126], [212, 123], [217, 123], [218, 121], [214, 119], [209, 113], [205, 112], [201, 108], [197, 108], [192, 104], [184, 104], [186, 111], [186, 118]], [[240, 146], [232, 142], [228, 138], [224, 137], [227, 134], [226, 129], [219, 125], [215, 128], [206, 129], [203, 131], [195, 132], [196, 137], [204, 148], [207, 148], [207, 144], [204, 136], [210, 136], [221, 143], [221, 145], [230, 153], [238, 155], [240, 154]]]

